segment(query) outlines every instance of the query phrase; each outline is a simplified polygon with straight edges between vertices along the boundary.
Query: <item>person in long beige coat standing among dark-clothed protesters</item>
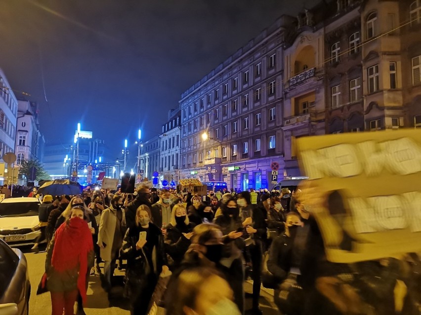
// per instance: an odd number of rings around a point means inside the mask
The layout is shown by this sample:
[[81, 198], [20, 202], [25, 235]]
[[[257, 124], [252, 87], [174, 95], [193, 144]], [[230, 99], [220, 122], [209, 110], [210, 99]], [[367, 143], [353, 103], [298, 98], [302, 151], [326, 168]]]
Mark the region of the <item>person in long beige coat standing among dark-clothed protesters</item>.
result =
[[122, 210], [123, 198], [115, 195], [110, 208], [102, 211], [99, 222], [98, 246], [104, 264], [104, 286], [111, 288], [111, 276], [114, 274], [116, 259], [123, 244], [123, 234], [126, 226], [125, 212]]

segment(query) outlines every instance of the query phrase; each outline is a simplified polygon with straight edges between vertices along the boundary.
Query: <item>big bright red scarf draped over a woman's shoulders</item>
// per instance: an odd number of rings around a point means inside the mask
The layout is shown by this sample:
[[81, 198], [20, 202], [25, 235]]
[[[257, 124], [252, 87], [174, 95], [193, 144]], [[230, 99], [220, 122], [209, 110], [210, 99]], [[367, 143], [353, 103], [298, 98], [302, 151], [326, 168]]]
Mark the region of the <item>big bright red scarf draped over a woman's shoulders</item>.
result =
[[75, 217], [59, 226], [55, 232], [55, 243], [51, 265], [58, 273], [72, 270], [79, 265], [78, 289], [86, 300], [87, 255], [93, 250], [92, 234], [86, 221]]

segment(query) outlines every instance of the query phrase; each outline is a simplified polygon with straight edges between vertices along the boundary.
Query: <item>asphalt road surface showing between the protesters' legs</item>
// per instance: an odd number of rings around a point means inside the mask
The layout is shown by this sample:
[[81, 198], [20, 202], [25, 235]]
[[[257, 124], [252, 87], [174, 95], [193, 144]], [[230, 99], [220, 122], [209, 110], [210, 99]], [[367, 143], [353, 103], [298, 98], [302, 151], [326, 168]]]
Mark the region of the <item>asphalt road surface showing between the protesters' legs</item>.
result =
[[[49, 293], [36, 295], [38, 284], [44, 273], [45, 252], [32, 253], [29, 248], [21, 248], [25, 253], [29, 266], [29, 278], [31, 281], [31, 299], [29, 301], [30, 315], [48, 315], [51, 314], [51, 300]], [[102, 266], [103, 264], [101, 264]], [[116, 271], [118, 272], [118, 271]], [[122, 281], [122, 272], [118, 272], [120, 277], [117, 281]], [[121, 295], [122, 287], [117, 286], [113, 288], [116, 295]], [[245, 291], [252, 292], [252, 283], [245, 282]], [[264, 315], [279, 315], [273, 303], [272, 290], [262, 289], [260, 298], [260, 308]], [[246, 309], [251, 307], [251, 298], [246, 299]], [[108, 301], [107, 293], [102, 289], [99, 276], [89, 277], [89, 287], [87, 290], [87, 302], [84, 306], [86, 315], [128, 315], [127, 302], [124, 299], [116, 299]], [[164, 311], [161, 309], [158, 315], [163, 315]]]

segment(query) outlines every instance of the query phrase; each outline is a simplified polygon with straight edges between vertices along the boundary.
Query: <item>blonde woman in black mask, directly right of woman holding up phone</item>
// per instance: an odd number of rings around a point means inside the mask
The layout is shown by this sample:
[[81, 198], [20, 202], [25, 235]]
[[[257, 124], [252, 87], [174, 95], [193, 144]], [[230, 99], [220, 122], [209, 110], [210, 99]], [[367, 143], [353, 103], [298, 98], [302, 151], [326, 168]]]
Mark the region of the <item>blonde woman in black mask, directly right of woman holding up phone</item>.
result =
[[171, 270], [181, 263], [190, 245], [194, 226], [195, 224], [189, 221], [187, 210], [183, 205], [178, 204], [172, 208], [171, 219], [166, 226], [165, 238], [166, 252], [173, 260]]

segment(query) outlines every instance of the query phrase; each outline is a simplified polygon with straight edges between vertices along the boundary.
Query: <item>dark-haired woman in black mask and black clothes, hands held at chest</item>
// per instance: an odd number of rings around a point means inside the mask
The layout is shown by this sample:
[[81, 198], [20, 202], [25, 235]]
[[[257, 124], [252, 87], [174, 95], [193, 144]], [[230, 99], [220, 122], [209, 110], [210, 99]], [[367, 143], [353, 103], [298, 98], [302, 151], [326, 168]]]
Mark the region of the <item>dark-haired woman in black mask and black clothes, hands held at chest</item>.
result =
[[235, 303], [240, 312], [244, 311], [243, 260], [242, 250], [245, 248], [243, 221], [236, 200], [231, 197], [221, 204], [222, 215], [215, 217], [214, 223], [219, 225], [226, 240], [220, 264], [227, 270], [227, 280], [234, 290]]

